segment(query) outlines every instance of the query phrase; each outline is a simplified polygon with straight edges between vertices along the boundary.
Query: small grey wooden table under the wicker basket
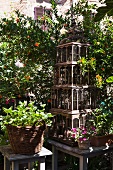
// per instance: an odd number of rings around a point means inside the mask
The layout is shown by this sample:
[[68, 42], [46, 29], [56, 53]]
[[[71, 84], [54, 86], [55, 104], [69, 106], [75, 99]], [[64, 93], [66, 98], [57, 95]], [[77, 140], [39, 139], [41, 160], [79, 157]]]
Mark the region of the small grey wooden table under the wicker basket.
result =
[[4, 156], [4, 170], [19, 170], [19, 164], [28, 163], [28, 170], [31, 169], [31, 162], [39, 162], [39, 170], [45, 170], [45, 158], [52, 155], [52, 152], [42, 147], [42, 150], [34, 155], [14, 154], [10, 145], [0, 146], [0, 152]]

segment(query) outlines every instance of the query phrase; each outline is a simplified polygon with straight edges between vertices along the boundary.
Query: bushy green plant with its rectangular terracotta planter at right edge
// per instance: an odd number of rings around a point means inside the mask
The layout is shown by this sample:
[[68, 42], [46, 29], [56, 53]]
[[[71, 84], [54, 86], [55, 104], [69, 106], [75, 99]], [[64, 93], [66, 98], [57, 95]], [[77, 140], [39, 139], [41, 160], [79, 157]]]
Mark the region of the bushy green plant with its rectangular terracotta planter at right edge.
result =
[[91, 138], [91, 145], [103, 146], [113, 141], [113, 99], [107, 97], [88, 116], [88, 124], [96, 127], [96, 134]]

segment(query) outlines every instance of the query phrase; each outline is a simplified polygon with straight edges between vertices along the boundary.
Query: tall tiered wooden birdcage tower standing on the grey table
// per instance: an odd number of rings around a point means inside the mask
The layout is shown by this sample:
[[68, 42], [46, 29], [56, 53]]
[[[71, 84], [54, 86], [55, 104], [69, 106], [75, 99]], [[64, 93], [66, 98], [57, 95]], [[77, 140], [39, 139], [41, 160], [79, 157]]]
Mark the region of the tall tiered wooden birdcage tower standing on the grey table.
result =
[[55, 116], [50, 137], [73, 145], [70, 129], [85, 124], [86, 115], [96, 108], [98, 99], [90, 71], [83, 75], [80, 66], [90, 44], [71, 40], [57, 46], [50, 110]]

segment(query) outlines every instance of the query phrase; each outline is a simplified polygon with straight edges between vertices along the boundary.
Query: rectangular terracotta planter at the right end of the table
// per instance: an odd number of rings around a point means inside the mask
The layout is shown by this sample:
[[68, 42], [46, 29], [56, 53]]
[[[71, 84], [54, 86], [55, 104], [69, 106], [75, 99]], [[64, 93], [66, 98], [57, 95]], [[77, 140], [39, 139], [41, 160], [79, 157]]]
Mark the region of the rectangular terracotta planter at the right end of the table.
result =
[[104, 135], [104, 136], [92, 136], [90, 138], [91, 146], [104, 146], [108, 143], [110, 145], [113, 142], [113, 134]]

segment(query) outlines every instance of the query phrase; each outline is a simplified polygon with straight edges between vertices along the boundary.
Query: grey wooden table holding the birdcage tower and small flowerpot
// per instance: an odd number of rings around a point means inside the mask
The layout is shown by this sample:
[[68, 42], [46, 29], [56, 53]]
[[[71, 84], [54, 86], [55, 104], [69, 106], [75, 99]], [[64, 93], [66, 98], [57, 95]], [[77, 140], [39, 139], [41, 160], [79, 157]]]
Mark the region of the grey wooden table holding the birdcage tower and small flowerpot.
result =
[[[52, 145], [52, 170], [58, 170], [58, 150], [79, 158], [79, 170], [88, 170], [88, 158], [113, 152], [113, 144], [110, 146], [90, 147], [87, 150], [81, 150], [77, 146], [71, 147], [53, 140], [48, 140], [48, 143]], [[113, 157], [111, 166], [111, 170], [113, 170]]]

